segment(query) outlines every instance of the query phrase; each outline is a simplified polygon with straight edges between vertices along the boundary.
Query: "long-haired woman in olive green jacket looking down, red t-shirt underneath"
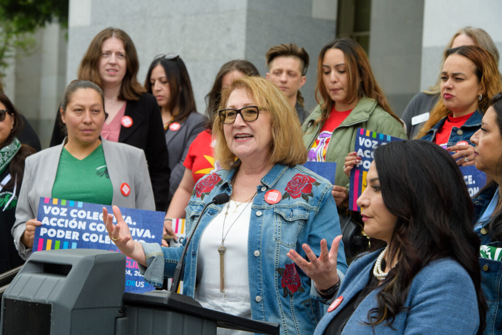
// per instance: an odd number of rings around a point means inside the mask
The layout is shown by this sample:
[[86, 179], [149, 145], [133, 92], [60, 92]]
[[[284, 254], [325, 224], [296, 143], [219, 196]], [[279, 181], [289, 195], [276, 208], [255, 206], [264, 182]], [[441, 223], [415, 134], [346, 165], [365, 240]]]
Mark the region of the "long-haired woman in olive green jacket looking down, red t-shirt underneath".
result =
[[316, 100], [319, 105], [303, 123], [309, 161], [336, 162], [332, 194], [341, 209], [348, 201], [345, 157], [354, 151], [357, 128], [406, 139], [376, 83], [364, 50], [355, 41], [337, 39], [318, 58]]

